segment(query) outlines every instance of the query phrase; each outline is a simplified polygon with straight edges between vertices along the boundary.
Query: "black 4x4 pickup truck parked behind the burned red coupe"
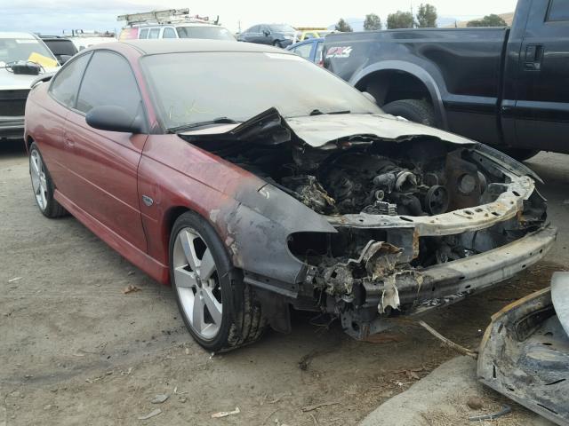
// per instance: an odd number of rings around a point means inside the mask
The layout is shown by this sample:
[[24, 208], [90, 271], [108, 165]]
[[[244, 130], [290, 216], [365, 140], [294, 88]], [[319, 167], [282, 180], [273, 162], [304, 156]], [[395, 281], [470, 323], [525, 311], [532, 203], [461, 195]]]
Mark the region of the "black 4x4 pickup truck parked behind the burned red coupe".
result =
[[519, 0], [511, 28], [335, 33], [324, 51], [327, 69], [389, 114], [518, 160], [569, 153], [567, 0]]

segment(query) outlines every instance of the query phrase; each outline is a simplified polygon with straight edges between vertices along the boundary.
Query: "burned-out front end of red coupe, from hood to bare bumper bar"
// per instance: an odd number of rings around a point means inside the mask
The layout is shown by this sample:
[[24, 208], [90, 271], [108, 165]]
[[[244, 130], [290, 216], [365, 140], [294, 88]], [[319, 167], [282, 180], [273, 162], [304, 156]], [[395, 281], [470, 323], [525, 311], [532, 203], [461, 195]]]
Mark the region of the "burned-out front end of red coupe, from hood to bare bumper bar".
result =
[[[337, 128], [321, 131], [326, 125]], [[390, 317], [452, 304], [508, 279], [545, 256], [557, 235], [531, 170], [414, 123], [369, 115], [284, 121], [268, 110], [228, 133], [182, 137], [333, 226], [335, 233], [300, 232], [294, 223], [307, 215], [286, 218], [283, 243], [303, 265], [289, 303], [339, 317], [356, 338], [389, 327]], [[251, 268], [259, 276], [250, 282], [268, 289], [273, 272]]]

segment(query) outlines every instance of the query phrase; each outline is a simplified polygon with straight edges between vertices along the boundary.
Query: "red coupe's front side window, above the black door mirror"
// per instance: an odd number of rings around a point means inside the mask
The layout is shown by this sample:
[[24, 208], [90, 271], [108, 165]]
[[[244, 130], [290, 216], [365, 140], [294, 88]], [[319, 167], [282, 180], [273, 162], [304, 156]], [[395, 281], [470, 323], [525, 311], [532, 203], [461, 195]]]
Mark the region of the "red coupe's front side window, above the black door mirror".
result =
[[93, 53], [85, 71], [76, 109], [87, 114], [94, 106], [122, 106], [134, 113], [140, 108], [140, 92], [129, 63], [109, 51]]

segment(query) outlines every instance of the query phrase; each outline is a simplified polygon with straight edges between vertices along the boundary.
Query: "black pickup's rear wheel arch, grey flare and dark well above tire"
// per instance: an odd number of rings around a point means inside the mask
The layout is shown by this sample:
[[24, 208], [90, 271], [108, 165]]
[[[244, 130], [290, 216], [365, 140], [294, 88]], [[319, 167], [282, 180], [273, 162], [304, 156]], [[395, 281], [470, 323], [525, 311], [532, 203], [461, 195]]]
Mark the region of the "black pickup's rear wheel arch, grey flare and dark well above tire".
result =
[[379, 106], [394, 100], [426, 98], [435, 110], [438, 127], [448, 128], [441, 88], [423, 67], [402, 60], [385, 60], [362, 68], [349, 83], [359, 91], [370, 92]]

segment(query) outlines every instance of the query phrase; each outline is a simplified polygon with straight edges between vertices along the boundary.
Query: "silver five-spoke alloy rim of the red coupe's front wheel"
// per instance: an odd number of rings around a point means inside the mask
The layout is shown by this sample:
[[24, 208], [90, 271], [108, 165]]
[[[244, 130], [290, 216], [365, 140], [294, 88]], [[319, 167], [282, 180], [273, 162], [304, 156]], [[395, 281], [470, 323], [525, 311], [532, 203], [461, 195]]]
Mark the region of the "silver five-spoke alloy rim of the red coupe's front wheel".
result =
[[172, 253], [173, 283], [192, 330], [205, 340], [220, 331], [221, 286], [212, 251], [196, 230], [183, 228]]

